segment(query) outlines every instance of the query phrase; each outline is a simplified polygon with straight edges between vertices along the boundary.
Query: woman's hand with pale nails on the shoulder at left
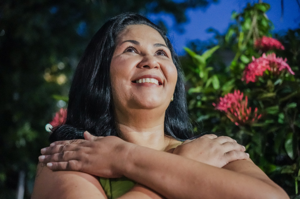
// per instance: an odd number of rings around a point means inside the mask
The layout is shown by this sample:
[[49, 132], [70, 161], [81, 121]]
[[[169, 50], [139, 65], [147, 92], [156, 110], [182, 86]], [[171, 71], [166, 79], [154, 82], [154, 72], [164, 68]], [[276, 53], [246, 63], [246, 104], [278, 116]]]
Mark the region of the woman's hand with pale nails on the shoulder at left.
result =
[[122, 164], [134, 144], [116, 136], [96, 137], [84, 132], [85, 139], [57, 141], [41, 149], [39, 161], [51, 170], [72, 170], [95, 176], [121, 177]]

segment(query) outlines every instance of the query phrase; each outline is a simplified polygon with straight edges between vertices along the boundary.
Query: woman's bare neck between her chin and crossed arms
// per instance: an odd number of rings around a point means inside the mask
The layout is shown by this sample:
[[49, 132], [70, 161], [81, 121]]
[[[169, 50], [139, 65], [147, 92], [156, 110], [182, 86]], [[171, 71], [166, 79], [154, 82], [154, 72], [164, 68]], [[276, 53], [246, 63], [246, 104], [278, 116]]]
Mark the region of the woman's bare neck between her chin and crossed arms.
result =
[[135, 109], [126, 114], [115, 111], [120, 138], [137, 145], [164, 151], [170, 138], [164, 135], [165, 114], [154, 110]]

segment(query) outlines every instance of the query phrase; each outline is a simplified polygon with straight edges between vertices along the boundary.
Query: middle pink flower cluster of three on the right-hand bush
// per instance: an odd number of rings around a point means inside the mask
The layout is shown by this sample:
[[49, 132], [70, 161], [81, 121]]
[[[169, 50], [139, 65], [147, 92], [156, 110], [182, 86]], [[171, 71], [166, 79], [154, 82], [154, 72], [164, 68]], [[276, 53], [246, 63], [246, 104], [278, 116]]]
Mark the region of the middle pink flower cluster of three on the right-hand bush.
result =
[[288, 71], [292, 75], [295, 73], [291, 67], [286, 63], [287, 59], [284, 60], [281, 57], [276, 57], [275, 53], [263, 54], [262, 57], [255, 59], [252, 57], [252, 62], [245, 67], [242, 81], [246, 81], [248, 84], [250, 81], [255, 82], [257, 77], [263, 76], [266, 70], [270, 71], [273, 75], [279, 75], [282, 71]]

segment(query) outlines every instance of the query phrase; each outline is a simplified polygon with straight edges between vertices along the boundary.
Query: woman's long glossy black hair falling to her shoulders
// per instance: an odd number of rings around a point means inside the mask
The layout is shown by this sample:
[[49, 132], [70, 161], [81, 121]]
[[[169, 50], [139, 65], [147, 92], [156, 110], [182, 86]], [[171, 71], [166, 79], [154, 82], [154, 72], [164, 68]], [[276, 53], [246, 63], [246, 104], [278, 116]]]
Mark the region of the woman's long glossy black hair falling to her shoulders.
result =
[[191, 137], [184, 75], [171, 42], [166, 33], [146, 17], [124, 13], [108, 20], [88, 44], [74, 73], [65, 124], [52, 130], [50, 142], [84, 139], [85, 130], [95, 136], [118, 136], [112, 110], [110, 63], [120, 32], [126, 26], [139, 24], [154, 28], [163, 37], [178, 73], [174, 100], [165, 114], [165, 135], [181, 141]]

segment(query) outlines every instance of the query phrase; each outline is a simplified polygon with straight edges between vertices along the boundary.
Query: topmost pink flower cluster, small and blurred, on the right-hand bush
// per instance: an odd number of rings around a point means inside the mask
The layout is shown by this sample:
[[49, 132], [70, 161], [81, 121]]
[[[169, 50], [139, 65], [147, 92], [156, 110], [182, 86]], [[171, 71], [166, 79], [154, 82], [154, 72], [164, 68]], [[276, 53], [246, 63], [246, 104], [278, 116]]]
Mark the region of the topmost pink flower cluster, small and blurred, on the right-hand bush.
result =
[[263, 36], [254, 42], [254, 47], [266, 52], [272, 49], [284, 50], [284, 46], [277, 39]]

